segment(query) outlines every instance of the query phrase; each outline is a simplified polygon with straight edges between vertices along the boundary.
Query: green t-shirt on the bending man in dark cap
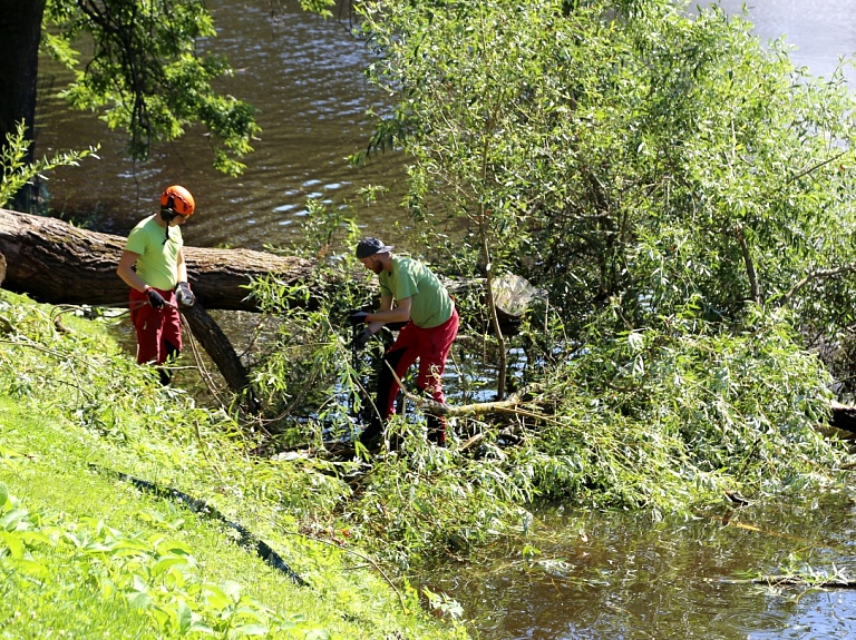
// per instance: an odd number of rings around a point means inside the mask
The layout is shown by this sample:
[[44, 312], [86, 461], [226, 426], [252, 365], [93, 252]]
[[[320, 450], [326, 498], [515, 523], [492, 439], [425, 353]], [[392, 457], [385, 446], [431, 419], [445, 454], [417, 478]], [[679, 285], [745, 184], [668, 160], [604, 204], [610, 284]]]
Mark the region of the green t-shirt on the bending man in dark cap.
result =
[[392, 272], [381, 272], [378, 280], [381, 296], [410, 298], [410, 319], [416, 326], [431, 328], [451, 317], [455, 305], [449, 292], [422, 263], [392, 256]]

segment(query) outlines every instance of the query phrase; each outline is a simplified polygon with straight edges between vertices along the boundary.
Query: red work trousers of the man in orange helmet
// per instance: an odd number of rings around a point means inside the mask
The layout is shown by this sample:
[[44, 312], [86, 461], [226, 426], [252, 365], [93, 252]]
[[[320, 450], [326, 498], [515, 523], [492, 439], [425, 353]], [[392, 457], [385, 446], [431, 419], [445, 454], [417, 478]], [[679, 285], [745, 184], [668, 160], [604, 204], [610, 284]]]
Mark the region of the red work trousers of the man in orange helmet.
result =
[[182, 351], [182, 316], [176, 307], [175, 293], [155, 289], [166, 301], [156, 309], [148, 296], [130, 289], [130, 322], [137, 332], [137, 363], [164, 364], [166, 358]]

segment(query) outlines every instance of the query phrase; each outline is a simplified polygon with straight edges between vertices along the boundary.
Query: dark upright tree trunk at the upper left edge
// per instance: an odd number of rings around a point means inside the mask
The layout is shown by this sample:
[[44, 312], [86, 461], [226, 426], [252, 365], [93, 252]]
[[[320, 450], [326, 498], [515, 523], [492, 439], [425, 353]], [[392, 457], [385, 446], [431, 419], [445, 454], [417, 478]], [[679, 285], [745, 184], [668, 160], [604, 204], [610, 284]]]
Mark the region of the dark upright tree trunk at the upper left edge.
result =
[[[0, 0], [0, 147], [23, 121], [28, 140], [35, 139], [36, 79], [39, 39], [46, 0]], [[32, 159], [30, 147], [28, 160]], [[23, 189], [12, 206], [28, 207]]]

